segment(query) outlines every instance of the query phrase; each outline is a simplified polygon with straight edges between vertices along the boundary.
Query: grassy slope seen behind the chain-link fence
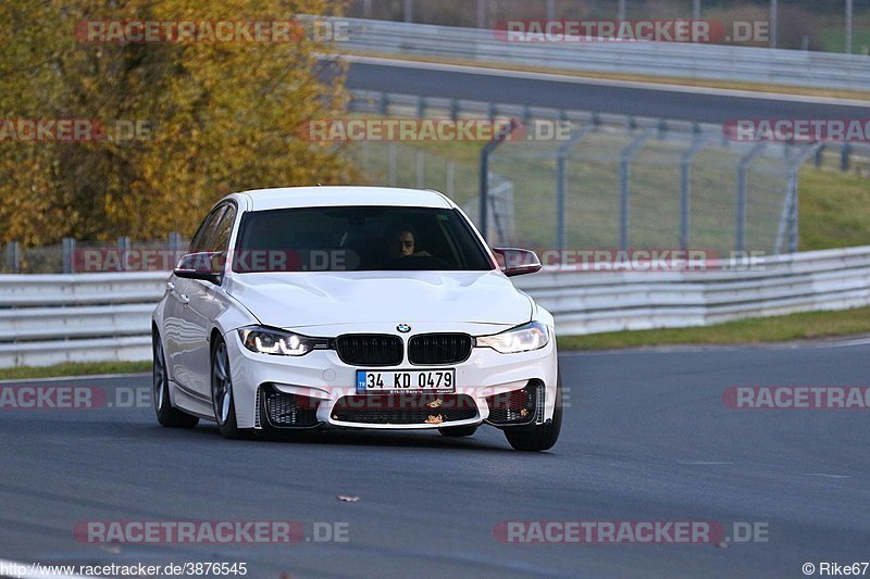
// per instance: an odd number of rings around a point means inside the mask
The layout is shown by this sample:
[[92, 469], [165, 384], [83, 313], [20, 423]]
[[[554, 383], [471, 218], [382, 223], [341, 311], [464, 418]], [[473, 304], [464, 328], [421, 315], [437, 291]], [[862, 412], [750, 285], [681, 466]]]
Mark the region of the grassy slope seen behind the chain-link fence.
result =
[[[411, 113], [409, 112], [409, 116]], [[619, 243], [619, 156], [631, 138], [595, 133], [568, 164], [569, 248], [614, 248]], [[370, 142], [362, 154], [349, 148], [373, 184], [387, 184], [388, 148]], [[555, 247], [556, 160], [554, 143], [506, 143], [490, 171], [514, 184], [512, 240], [531, 249]], [[415, 154], [425, 154], [424, 187], [447, 191], [445, 166], [455, 163], [452, 199], [475, 219], [481, 143], [403, 142], [398, 144], [396, 185], [415, 187]], [[673, 248], [679, 239], [680, 155], [684, 143], [647, 141], [632, 166], [631, 244]], [[734, 243], [736, 171], [743, 152], [709, 148], [693, 163], [691, 246], [731, 251]], [[831, 153], [833, 155], [833, 153]], [[364, 156], [364, 160], [363, 160]], [[833, 156], [826, 163], [834, 163]], [[858, 167], [866, 171], [867, 167]], [[759, 158], [748, 176], [747, 249], [771, 252], [782, 212], [786, 178], [779, 158]], [[806, 165], [800, 172], [801, 251], [870, 243], [870, 179], [855, 173]]]

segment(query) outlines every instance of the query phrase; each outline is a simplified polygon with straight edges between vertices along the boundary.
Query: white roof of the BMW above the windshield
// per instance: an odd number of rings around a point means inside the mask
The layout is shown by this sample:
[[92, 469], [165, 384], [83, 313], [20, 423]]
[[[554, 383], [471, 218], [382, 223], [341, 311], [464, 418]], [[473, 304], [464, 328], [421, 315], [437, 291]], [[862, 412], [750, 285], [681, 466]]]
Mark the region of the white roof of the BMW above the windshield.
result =
[[236, 194], [247, 198], [248, 211], [341, 205], [440, 209], [456, 206], [437, 191], [395, 187], [282, 187], [244, 191]]

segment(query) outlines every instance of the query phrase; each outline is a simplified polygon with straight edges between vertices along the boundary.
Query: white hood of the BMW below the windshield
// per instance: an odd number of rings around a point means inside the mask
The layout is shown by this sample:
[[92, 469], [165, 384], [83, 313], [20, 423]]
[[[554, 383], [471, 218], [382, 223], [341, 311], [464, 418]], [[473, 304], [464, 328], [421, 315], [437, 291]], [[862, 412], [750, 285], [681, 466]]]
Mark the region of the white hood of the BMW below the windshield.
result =
[[252, 273], [226, 291], [261, 324], [480, 323], [519, 325], [531, 299], [500, 272]]

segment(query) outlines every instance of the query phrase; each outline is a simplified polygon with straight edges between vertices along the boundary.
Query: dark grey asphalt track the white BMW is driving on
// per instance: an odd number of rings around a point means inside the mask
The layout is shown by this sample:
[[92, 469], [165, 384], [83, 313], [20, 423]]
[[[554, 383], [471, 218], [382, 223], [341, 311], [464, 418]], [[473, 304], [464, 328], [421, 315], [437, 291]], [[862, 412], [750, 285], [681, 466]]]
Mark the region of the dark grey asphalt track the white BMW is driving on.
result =
[[[870, 559], [868, 411], [746, 411], [729, 386], [863, 386], [870, 345], [682, 349], [561, 356], [562, 437], [546, 453], [501, 432], [323, 432], [229, 441], [150, 408], [0, 411], [0, 558], [247, 562], [249, 577], [803, 577]], [[54, 381], [47, 385], [63, 385]], [[148, 376], [74, 385], [149, 386]], [[33, 385], [33, 382], [30, 382]], [[8, 385], [3, 385], [7, 387]], [[340, 502], [337, 495], [358, 496]], [[87, 520], [348, 524], [348, 541], [95, 545]], [[513, 520], [734, 521], [768, 542], [504, 544]]]

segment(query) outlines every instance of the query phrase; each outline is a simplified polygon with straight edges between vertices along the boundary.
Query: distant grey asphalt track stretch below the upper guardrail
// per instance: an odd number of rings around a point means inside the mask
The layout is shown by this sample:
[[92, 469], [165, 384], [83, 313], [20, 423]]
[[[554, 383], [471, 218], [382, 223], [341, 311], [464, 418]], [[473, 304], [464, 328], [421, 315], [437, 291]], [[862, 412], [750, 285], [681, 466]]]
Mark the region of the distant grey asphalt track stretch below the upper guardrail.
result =
[[447, 97], [654, 118], [724, 123], [759, 118], [867, 118], [865, 106], [835, 100], [720, 95], [692, 87], [654, 88], [558, 75], [505, 73], [438, 64], [357, 59], [347, 86], [426, 97]]

